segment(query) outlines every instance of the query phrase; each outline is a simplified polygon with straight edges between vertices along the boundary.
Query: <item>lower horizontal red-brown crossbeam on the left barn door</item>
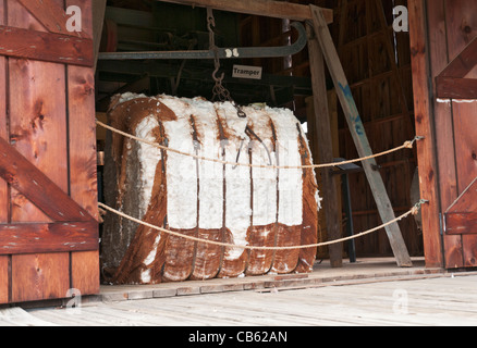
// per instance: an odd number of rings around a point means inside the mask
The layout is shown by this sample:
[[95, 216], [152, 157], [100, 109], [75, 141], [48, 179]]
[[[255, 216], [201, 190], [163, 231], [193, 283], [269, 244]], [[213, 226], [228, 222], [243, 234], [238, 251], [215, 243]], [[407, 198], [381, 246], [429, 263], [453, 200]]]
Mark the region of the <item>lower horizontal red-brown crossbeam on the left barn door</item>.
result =
[[95, 222], [0, 224], [0, 256], [99, 249]]

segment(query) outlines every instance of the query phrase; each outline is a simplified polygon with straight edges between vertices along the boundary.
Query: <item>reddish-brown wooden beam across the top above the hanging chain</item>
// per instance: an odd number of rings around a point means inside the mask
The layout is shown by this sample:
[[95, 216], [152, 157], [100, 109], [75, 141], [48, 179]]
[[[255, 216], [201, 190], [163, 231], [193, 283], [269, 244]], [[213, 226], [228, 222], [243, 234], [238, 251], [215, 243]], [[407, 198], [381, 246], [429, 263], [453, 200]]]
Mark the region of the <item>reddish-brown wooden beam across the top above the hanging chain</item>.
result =
[[[199, 8], [212, 8], [215, 10], [237, 12], [245, 14], [261, 15], [268, 17], [307, 21], [311, 20], [311, 12], [307, 5], [274, 0], [159, 0], [186, 4]], [[333, 11], [322, 9], [328, 24], [333, 23]]]

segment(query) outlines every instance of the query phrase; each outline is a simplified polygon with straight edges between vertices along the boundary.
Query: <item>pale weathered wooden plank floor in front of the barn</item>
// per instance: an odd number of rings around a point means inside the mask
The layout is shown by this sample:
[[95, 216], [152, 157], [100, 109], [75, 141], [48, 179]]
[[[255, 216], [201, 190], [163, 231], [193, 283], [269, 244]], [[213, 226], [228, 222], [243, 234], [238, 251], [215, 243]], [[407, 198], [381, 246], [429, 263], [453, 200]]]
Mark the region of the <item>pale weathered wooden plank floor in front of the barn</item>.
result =
[[[296, 279], [298, 282], [299, 279]], [[477, 274], [355, 277], [78, 309], [0, 310], [0, 325], [366, 326], [477, 325]]]

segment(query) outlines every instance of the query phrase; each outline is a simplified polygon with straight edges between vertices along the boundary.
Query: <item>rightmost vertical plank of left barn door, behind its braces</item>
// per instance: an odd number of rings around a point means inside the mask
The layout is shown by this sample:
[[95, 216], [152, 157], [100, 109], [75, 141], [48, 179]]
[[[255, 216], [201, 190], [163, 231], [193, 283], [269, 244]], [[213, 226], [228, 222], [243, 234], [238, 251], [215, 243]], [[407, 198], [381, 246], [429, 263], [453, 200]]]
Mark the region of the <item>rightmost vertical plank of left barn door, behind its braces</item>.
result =
[[[83, 32], [93, 37], [93, 1], [68, 0], [82, 9]], [[68, 115], [71, 197], [98, 219], [95, 76], [91, 67], [68, 66]], [[83, 295], [99, 293], [99, 251], [73, 252], [72, 287]]]

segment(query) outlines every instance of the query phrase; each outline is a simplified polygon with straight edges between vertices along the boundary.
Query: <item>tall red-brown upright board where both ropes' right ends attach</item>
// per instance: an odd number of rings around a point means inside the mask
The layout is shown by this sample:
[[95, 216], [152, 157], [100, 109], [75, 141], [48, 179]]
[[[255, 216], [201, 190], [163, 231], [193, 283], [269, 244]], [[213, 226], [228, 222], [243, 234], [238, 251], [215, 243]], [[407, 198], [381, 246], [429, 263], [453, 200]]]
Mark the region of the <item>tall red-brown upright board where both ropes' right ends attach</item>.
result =
[[421, 209], [424, 249], [426, 265], [440, 268], [443, 265], [443, 259], [441, 252], [442, 241], [439, 233], [438, 169], [433, 149], [436, 139], [432, 132], [425, 9], [425, 0], [409, 0], [408, 2], [416, 133], [426, 137], [425, 140], [417, 144], [420, 197], [429, 200], [429, 204], [423, 206]]

